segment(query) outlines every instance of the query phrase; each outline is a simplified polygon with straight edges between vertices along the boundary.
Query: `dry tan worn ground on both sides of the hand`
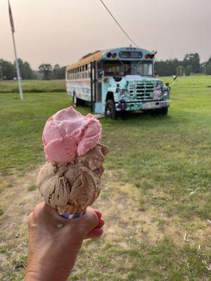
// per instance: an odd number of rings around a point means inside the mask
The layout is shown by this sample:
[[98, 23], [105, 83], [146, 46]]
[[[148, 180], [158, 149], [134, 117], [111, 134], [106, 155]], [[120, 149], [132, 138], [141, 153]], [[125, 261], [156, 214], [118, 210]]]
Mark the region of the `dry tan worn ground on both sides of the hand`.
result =
[[[29, 191], [28, 187], [36, 185], [38, 171], [31, 171], [21, 178], [6, 178], [10, 185], [1, 192], [4, 214], [0, 216], [0, 259], [4, 265], [9, 264], [11, 259], [17, 261], [17, 254], [26, 254], [27, 216], [34, 205], [41, 202], [37, 190]], [[117, 183], [115, 172], [106, 171], [101, 195], [94, 204], [106, 218], [103, 241], [127, 249], [142, 242], [155, 244], [163, 237], [170, 237], [179, 245], [193, 244], [200, 251], [211, 249], [208, 240], [211, 236], [210, 223], [194, 218], [192, 226], [191, 221], [181, 220], [177, 216], [168, 217], [159, 207], [148, 204], [148, 196], [151, 195], [141, 195], [140, 189], [132, 184]], [[141, 208], [140, 198], [144, 202]], [[16, 263], [18, 266], [21, 264], [20, 261]]]

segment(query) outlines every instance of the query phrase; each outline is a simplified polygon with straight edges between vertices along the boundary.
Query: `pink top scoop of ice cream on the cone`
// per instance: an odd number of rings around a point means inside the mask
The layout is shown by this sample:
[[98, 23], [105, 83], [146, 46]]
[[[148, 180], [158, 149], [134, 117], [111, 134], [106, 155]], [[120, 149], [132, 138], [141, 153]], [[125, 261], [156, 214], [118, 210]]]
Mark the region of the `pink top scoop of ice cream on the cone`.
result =
[[42, 135], [47, 161], [75, 163], [101, 141], [101, 124], [89, 113], [81, 115], [72, 106], [52, 115]]

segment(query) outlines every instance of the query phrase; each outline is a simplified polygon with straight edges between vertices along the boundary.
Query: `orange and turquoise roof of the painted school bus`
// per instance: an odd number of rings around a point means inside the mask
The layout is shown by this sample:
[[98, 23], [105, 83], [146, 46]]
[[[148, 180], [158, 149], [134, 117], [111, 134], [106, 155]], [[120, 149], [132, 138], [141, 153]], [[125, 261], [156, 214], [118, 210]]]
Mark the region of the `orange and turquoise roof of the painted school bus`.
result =
[[[116, 53], [116, 58], [110, 58], [112, 60], [124, 60], [124, 59], [127, 59], [127, 60], [131, 60], [134, 58], [120, 58], [119, 57], [119, 53], [120, 52], [129, 52], [129, 51], [132, 51], [134, 53], [138, 53], [140, 52], [142, 55], [141, 55], [141, 58], [145, 58], [146, 55], [155, 55], [153, 52], [151, 51], [147, 51], [143, 48], [135, 48], [135, 47], [125, 47], [125, 48], [113, 48], [113, 49], [108, 49], [108, 50], [104, 50], [104, 51], [96, 51], [94, 53], [90, 53], [88, 55], [84, 55], [84, 57], [79, 60], [77, 63], [72, 63], [72, 65], [68, 65], [68, 67], [66, 67], [66, 71], [68, 70], [72, 70], [76, 67], [80, 67], [82, 65], [87, 65], [87, 63], [91, 63], [93, 62], [94, 60], [100, 60], [101, 58], [107, 60], [108, 57], [108, 53]], [[136, 58], [136, 59], [141, 59], [141, 58]], [[154, 60], [154, 56], [153, 58], [147, 58], [148, 61], [151, 61], [151, 60]]]

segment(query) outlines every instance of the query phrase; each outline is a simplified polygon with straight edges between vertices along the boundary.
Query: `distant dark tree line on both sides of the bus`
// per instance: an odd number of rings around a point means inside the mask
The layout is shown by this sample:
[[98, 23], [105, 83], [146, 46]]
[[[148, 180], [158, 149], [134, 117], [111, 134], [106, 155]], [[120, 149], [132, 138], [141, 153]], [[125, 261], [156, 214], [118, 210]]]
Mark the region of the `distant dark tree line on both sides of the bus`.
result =
[[[42, 63], [38, 70], [32, 70], [30, 64], [18, 58], [20, 77], [22, 79], [65, 79], [65, 66]], [[188, 53], [183, 60], [177, 58], [170, 60], [158, 60], [156, 73], [159, 76], [188, 76], [195, 73], [211, 75], [211, 56], [205, 63], [200, 63], [198, 53]], [[16, 77], [15, 63], [0, 59], [0, 80], [13, 80]]]

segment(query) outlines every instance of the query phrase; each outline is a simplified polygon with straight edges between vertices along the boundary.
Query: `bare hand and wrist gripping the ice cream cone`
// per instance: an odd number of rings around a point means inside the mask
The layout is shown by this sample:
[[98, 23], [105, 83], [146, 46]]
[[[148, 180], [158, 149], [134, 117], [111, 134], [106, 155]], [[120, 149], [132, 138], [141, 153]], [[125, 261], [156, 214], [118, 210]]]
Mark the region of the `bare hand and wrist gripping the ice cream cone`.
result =
[[66, 281], [82, 242], [103, 234], [101, 211], [88, 208], [79, 218], [66, 219], [41, 203], [28, 218], [29, 242], [25, 281]]

